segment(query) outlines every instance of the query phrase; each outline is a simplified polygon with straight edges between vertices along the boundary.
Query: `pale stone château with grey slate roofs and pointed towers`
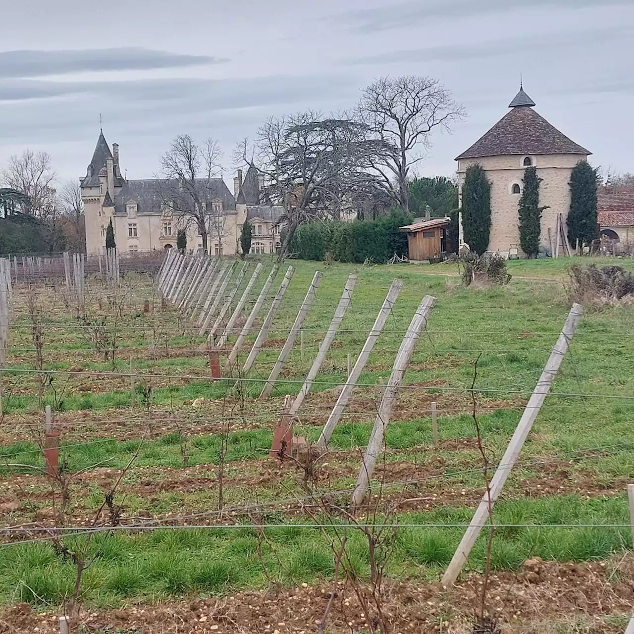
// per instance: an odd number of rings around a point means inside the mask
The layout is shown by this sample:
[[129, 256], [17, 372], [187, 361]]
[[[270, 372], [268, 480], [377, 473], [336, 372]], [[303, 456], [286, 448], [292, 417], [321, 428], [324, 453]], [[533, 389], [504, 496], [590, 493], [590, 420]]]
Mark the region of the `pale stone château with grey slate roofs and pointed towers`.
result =
[[[157, 179], [129, 180], [122, 176], [119, 145], [112, 151], [100, 133], [86, 176], [79, 179], [86, 216], [86, 252], [98, 254], [105, 249], [106, 230], [112, 219], [115, 242], [120, 252], [152, 251], [176, 247], [178, 230], [184, 228], [188, 249], [202, 249], [202, 238], [193, 223], [162, 204]], [[240, 253], [242, 225], [252, 225], [251, 252], [275, 253], [280, 247], [277, 222], [281, 207], [260, 205], [257, 169], [242, 170], [233, 179], [233, 193], [221, 178], [207, 181], [209, 197], [208, 245], [212, 255], [235, 256]]]

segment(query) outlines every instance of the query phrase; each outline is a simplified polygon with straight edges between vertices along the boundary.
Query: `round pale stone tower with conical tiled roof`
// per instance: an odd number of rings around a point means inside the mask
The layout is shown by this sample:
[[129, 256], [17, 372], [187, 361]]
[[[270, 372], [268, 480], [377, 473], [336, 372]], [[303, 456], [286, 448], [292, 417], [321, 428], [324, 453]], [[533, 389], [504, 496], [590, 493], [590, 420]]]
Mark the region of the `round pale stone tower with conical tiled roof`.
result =
[[521, 253], [517, 207], [522, 195], [524, 171], [534, 165], [541, 178], [540, 205], [548, 207], [541, 216], [540, 250], [549, 252], [548, 230], [554, 239], [557, 214], [562, 214], [565, 222], [569, 211], [569, 181], [573, 167], [590, 155], [588, 150], [571, 141], [535, 112], [534, 105], [520, 87], [509, 105], [510, 112], [456, 157], [459, 195], [470, 165], [482, 165], [491, 183], [489, 251], [517, 249]]

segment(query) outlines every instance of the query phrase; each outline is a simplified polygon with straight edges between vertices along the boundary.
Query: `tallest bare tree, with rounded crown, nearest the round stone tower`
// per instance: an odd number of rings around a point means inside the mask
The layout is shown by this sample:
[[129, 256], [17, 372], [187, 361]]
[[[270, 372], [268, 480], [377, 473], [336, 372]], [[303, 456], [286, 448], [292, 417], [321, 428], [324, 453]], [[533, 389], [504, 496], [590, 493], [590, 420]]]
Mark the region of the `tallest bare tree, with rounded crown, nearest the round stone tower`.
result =
[[407, 211], [411, 167], [424, 159], [430, 133], [435, 128], [450, 130], [451, 123], [464, 116], [464, 108], [431, 77], [382, 77], [363, 91], [357, 113], [377, 142], [368, 167]]

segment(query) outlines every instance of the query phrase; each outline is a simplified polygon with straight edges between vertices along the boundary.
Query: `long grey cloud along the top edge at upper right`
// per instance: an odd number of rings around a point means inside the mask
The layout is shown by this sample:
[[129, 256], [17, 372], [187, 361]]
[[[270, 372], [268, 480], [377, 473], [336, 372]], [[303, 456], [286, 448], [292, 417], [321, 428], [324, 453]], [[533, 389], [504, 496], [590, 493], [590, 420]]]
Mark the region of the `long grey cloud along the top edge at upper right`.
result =
[[443, 18], [469, 18], [517, 10], [631, 7], [631, 0], [416, 0], [376, 8], [345, 11], [328, 16], [329, 22], [346, 25], [360, 33], [403, 29]]

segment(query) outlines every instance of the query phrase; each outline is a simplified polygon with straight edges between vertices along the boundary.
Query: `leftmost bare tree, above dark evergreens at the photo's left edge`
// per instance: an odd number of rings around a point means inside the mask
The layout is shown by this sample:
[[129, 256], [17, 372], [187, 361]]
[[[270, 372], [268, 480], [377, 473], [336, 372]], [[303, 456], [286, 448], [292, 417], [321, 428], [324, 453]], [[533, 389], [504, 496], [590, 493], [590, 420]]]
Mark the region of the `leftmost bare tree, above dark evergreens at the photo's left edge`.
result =
[[22, 213], [41, 220], [55, 209], [55, 179], [49, 154], [28, 149], [10, 157], [1, 175], [4, 186], [26, 195], [20, 204]]

